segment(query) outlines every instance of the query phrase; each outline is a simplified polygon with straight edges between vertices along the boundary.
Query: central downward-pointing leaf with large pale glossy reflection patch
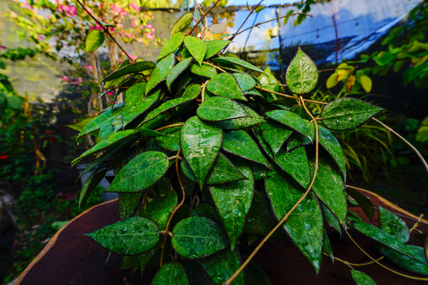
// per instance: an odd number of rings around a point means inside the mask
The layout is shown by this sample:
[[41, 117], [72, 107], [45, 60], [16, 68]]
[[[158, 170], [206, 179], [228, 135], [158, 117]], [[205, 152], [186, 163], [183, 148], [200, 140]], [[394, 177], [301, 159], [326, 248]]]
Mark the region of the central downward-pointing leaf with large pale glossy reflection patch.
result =
[[220, 152], [222, 140], [220, 128], [205, 124], [197, 116], [188, 119], [181, 128], [181, 151], [201, 189]]

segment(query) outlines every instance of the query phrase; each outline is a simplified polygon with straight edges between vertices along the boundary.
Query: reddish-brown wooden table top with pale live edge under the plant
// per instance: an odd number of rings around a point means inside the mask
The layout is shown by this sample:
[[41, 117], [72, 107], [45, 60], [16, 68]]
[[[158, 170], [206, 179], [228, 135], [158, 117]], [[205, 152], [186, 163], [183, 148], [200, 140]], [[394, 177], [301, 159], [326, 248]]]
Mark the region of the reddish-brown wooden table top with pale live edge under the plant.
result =
[[[358, 190], [364, 195], [369, 196], [374, 205], [380, 205], [395, 213], [418, 218], [372, 192], [363, 189]], [[360, 208], [353, 208], [352, 210], [364, 216]], [[24, 270], [15, 284], [150, 284], [149, 280], [155, 274], [155, 267], [147, 267], [143, 278], [139, 270], [137, 270], [134, 275], [131, 270], [119, 270], [122, 261], [119, 255], [112, 254], [107, 264], [104, 265], [107, 260], [108, 251], [90, 238], [82, 235], [83, 233], [91, 232], [119, 220], [117, 199], [86, 210], [71, 220], [53, 236], [42, 252], [40, 252], [34, 261]], [[409, 228], [414, 224], [413, 220], [403, 220], [407, 223]], [[423, 221], [428, 223], [426, 220]], [[369, 222], [369, 220], [366, 220], [366, 222]], [[377, 226], [377, 211], [375, 211], [375, 216], [370, 223]], [[428, 232], [428, 225], [421, 224], [418, 229], [422, 232]], [[340, 237], [338, 233], [330, 230], [327, 232], [330, 237], [330, 242], [332, 243], [333, 254], [336, 257], [352, 263], [370, 261], [347, 236]], [[352, 235], [357, 243], [369, 254], [375, 258], [380, 256], [367, 238], [363, 238], [355, 232], [352, 232]], [[413, 232], [410, 234], [409, 244], [422, 246], [422, 241], [416, 239]], [[254, 244], [251, 246], [240, 246], [241, 255], [249, 255], [254, 247]], [[349, 267], [339, 261], [336, 261], [333, 265], [332, 261], [327, 256], [323, 256], [321, 270], [318, 276], [315, 276], [315, 271], [290, 241], [273, 240], [271, 243], [266, 243], [262, 251], [256, 255], [255, 259], [259, 264], [263, 264], [263, 268], [272, 285], [355, 284], [351, 278]], [[398, 272], [417, 276], [416, 274], [407, 273], [395, 267], [386, 260], [380, 262]], [[363, 271], [371, 276], [377, 285], [428, 285], [426, 281], [417, 281], [398, 276], [383, 269], [377, 264], [355, 267], [355, 269]]]

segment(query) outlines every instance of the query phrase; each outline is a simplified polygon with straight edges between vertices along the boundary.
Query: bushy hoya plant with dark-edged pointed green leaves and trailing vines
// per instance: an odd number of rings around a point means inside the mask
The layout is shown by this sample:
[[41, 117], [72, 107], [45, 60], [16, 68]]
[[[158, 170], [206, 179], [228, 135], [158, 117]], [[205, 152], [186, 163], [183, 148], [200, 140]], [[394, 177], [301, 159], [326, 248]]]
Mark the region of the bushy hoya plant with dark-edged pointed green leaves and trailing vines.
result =
[[[156, 62], [126, 60], [100, 82], [124, 93], [125, 103], [73, 125], [78, 137], [97, 137], [72, 162], [95, 157], [82, 172], [90, 175], [79, 205], [113, 169], [106, 192], [119, 193], [122, 218], [86, 235], [124, 255], [122, 269], [157, 266], [155, 285], [270, 284], [252, 261], [268, 238], [291, 240], [318, 273], [323, 254], [334, 258], [326, 228], [351, 239], [360, 232], [400, 267], [428, 274], [426, 246], [424, 255], [405, 244], [409, 230], [398, 216], [379, 207], [378, 228], [347, 208], [348, 195], [373, 215], [363, 194], [345, 194], [345, 158], [330, 131], [358, 128], [382, 108], [340, 98], [312, 113], [304, 95], [317, 85], [318, 68], [309, 56], [297, 50], [280, 92], [269, 68], [223, 53], [230, 40], [193, 35], [210, 9], [195, 25], [192, 12], [182, 15]], [[98, 41], [92, 35], [86, 45]], [[240, 244], [251, 242], [259, 246], [242, 258]], [[351, 275], [375, 284], [360, 271]]]

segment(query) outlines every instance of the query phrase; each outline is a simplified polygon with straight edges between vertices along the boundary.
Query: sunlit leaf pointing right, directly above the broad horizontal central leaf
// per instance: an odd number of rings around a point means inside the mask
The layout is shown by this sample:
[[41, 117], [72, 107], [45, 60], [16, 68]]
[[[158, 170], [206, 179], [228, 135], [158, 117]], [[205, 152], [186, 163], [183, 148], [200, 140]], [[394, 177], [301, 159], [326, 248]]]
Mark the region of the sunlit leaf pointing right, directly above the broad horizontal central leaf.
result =
[[235, 77], [227, 72], [213, 76], [206, 85], [207, 90], [217, 96], [248, 101]]

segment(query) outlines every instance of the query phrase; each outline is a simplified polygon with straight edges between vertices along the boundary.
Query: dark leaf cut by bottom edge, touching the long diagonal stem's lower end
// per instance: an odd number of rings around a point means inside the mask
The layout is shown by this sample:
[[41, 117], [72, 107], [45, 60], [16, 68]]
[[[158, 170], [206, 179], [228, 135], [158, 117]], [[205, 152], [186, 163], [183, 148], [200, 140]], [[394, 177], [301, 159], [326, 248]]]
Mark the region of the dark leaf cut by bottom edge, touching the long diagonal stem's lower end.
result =
[[[222, 252], [199, 261], [210, 279], [218, 285], [223, 284], [241, 266], [238, 249]], [[233, 281], [234, 285], [244, 285], [244, 274], [240, 273]]]

